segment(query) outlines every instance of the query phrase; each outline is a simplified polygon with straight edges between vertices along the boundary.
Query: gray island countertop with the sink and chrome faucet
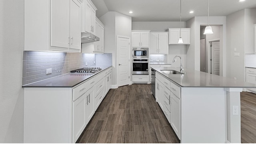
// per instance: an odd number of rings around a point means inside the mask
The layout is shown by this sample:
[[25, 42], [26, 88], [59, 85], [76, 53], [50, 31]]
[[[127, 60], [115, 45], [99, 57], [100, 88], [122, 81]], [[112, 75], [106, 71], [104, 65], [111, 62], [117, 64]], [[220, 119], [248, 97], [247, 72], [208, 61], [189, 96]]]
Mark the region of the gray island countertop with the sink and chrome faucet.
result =
[[150, 67], [181, 87], [256, 88], [256, 84], [186, 68], [182, 71], [185, 74], [165, 74], [161, 70], [176, 70], [179, 72], [180, 67]]

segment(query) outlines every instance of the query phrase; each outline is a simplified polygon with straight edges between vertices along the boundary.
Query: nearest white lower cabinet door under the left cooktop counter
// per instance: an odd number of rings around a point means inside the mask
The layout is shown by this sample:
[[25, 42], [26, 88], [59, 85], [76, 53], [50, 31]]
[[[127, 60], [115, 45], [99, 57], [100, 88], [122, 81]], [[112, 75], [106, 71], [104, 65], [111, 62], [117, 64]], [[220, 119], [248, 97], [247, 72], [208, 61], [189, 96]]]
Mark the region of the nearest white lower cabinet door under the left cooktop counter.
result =
[[86, 94], [83, 94], [73, 102], [73, 142], [79, 138], [86, 126]]

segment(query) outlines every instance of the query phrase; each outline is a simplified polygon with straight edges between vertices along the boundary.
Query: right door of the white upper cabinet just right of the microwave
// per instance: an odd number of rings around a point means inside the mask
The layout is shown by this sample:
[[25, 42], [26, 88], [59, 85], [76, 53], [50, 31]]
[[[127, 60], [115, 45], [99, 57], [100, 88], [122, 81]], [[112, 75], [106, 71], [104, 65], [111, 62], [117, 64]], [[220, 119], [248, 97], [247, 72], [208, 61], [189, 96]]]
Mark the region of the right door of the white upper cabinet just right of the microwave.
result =
[[[168, 54], [169, 52], [169, 46], [168, 46], [168, 34], [165, 33], [165, 34], [159, 34], [159, 50], [158, 50], [158, 53], [159, 54]], [[151, 47], [151, 45], [150, 45]]]

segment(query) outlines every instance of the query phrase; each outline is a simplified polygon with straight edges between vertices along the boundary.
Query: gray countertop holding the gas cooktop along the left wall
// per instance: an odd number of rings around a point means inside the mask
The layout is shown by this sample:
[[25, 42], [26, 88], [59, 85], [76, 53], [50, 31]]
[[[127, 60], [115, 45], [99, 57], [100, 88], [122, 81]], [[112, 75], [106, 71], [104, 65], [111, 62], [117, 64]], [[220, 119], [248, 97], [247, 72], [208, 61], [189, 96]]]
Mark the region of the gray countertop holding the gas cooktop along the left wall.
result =
[[[102, 71], [106, 70], [107, 68], [110, 68], [111, 66], [92, 66], [92, 67], [100, 67], [102, 68]], [[68, 74], [63, 74], [61, 76], [56, 76], [54, 78], [49, 78], [46, 80], [42, 80], [39, 82], [35, 82], [32, 84], [26, 84], [22, 86], [23, 88], [28, 88], [28, 87], [34, 87], [34, 88], [72, 88], [81, 82], [91, 78], [92, 76], [95, 76], [99, 74], [100, 72], [96, 72], [94, 74], [77, 74], [77, 73], [68, 73]]]

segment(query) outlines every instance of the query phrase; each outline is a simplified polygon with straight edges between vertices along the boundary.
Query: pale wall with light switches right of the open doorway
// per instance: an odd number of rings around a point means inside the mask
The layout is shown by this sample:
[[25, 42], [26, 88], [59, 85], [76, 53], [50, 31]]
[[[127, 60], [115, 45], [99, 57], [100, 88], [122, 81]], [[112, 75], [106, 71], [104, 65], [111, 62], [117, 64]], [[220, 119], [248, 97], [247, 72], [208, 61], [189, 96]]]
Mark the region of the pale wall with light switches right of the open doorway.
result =
[[[245, 54], [254, 53], [256, 9], [244, 9], [227, 16], [227, 76], [245, 80]], [[234, 48], [240, 56], [234, 56]]]

